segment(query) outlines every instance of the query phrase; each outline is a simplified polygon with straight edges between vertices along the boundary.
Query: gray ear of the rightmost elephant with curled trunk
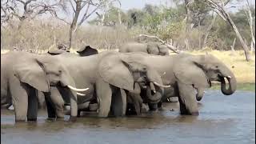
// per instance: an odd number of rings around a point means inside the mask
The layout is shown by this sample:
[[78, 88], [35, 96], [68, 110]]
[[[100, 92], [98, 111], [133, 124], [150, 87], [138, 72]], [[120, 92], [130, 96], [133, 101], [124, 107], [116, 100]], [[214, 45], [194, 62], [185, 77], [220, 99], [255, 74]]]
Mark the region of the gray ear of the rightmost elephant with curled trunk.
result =
[[209, 87], [210, 83], [202, 68], [195, 62], [175, 64], [174, 75], [178, 81], [196, 87]]

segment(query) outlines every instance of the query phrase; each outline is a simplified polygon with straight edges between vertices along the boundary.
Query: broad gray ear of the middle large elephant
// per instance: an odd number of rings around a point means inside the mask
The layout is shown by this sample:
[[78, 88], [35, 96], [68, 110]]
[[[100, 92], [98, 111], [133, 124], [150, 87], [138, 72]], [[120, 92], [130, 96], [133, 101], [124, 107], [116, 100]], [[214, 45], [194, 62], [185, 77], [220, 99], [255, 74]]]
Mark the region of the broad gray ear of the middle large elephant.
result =
[[111, 55], [102, 58], [98, 65], [98, 72], [105, 82], [125, 90], [134, 90], [134, 78], [129, 65], [117, 55]]

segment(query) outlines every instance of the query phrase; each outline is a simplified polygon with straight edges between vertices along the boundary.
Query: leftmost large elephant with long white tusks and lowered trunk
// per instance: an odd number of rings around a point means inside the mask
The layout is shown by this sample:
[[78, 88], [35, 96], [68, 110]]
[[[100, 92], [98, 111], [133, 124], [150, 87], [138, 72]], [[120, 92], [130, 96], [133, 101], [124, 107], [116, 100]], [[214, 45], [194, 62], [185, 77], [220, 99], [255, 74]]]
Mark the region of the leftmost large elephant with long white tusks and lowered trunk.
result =
[[[49, 62], [50, 61], [50, 62]], [[36, 121], [38, 98], [36, 90], [49, 94], [51, 86], [66, 90], [70, 97], [71, 116], [77, 112], [77, 91], [86, 89], [75, 88], [73, 78], [53, 58], [42, 54], [26, 52], [9, 52], [1, 55], [1, 105], [14, 105], [15, 122]]]

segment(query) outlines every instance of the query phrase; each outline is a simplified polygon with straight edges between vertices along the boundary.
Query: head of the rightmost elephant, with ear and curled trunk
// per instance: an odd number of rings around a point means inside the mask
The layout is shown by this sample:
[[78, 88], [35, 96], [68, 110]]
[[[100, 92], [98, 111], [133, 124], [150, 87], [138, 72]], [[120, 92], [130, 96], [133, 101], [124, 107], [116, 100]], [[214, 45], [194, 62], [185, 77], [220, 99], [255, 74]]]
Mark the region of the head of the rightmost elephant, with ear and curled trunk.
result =
[[[174, 66], [174, 74], [178, 80], [190, 84], [202, 93], [202, 89], [211, 86], [211, 81], [221, 82], [222, 94], [230, 95], [236, 90], [237, 82], [232, 71], [218, 58], [211, 54], [190, 56], [183, 55]], [[228, 81], [226, 89], [225, 78]], [[202, 97], [203, 94], [197, 94]], [[200, 100], [201, 98], [197, 98]]]

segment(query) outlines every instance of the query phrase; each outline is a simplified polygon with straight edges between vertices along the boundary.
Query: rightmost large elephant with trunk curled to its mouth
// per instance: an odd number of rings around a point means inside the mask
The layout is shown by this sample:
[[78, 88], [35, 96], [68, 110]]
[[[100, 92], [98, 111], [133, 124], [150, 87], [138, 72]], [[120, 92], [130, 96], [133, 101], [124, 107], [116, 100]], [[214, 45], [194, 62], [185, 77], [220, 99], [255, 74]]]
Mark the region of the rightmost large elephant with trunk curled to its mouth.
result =
[[[126, 53], [122, 58], [127, 62], [139, 62], [153, 67], [162, 75], [162, 83], [177, 90], [181, 114], [198, 115], [196, 88], [205, 90], [211, 81], [221, 82], [222, 94], [230, 95], [236, 90], [236, 78], [232, 71], [211, 54], [176, 54], [171, 56], [153, 56], [143, 53]], [[226, 82], [228, 87], [226, 88]]]

